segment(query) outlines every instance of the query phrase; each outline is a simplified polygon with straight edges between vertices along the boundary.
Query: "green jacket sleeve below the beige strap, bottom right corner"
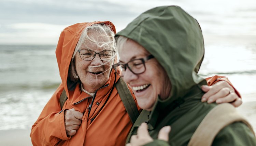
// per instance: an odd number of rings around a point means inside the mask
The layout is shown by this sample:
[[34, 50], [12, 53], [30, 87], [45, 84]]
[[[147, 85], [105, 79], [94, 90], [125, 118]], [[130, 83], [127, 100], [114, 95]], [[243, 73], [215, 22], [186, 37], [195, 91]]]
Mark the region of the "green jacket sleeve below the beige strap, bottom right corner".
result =
[[236, 122], [223, 128], [215, 137], [213, 146], [256, 146], [252, 131], [242, 122]]

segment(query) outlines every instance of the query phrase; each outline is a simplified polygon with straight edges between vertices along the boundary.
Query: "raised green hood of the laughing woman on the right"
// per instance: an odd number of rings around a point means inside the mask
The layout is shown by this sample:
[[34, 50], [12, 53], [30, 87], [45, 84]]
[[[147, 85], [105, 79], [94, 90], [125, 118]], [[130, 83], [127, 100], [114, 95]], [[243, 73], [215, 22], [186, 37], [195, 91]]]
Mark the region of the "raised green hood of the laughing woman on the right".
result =
[[166, 70], [172, 84], [171, 96], [165, 101], [158, 99], [160, 107], [183, 98], [203, 81], [197, 74], [204, 56], [202, 31], [198, 22], [179, 6], [148, 10], [117, 33], [119, 35], [138, 42]]

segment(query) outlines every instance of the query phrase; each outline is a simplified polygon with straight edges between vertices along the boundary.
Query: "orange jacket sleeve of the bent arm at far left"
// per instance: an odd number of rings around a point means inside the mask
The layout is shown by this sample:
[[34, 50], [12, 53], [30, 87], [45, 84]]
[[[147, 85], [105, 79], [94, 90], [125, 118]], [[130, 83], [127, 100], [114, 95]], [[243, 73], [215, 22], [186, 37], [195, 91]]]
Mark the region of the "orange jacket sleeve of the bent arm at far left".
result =
[[59, 97], [63, 87], [59, 87], [45, 105], [30, 133], [34, 146], [56, 145], [61, 140], [68, 140], [64, 123], [64, 110], [61, 111]]

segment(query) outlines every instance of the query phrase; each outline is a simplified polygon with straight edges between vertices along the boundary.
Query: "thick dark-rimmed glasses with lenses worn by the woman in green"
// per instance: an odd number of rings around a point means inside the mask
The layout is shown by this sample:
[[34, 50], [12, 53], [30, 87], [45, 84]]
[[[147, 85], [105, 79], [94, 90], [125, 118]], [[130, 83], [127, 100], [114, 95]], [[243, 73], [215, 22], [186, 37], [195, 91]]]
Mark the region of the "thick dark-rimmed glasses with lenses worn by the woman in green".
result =
[[[133, 59], [130, 60], [127, 63], [116, 63], [114, 65], [112, 65], [112, 67], [114, 68], [114, 70], [116, 71], [116, 73], [119, 76], [124, 76], [124, 72], [126, 71], [126, 69], [128, 68], [133, 74], [142, 74], [146, 71], [146, 66], [145, 66], [145, 62], [149, 59], [154, 58], [153, 55], [149, 55], [146, 56], [145, 58], [139, 58], [139, 59]], [[118, 68], [121, 69], [121, 72], [118, 72]]]

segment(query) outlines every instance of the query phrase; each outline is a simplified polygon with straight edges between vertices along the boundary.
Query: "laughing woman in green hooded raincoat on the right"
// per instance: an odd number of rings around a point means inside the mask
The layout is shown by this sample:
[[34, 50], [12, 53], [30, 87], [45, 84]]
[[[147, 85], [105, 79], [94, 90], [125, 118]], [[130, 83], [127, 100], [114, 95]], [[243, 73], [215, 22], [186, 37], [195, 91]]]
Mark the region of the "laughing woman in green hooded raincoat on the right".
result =
[[[119, 75], [144, 109], [127, 145], [188, 145], [216, 106], [201, 102], [200, 87], [207, 83], [197, 74], [204, 57], [198, 22], [178, 6], [161, 6], [144, 12], [116, 36], [120, 62], [113, 68], [122, 69]], [[211, 145], [249, 146], [256, 140], [246, 124], [233, 122], [216, 133]]]

